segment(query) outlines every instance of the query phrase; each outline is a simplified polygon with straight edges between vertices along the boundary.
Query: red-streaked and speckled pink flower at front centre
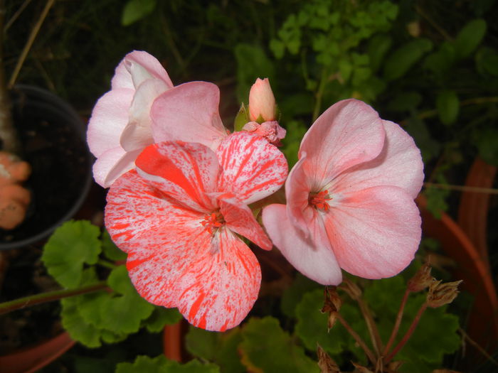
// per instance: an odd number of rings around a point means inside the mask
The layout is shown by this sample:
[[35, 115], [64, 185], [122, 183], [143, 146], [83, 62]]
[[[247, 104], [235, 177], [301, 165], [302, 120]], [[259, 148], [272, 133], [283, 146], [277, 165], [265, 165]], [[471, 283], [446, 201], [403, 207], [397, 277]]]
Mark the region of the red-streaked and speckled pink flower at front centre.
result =
[[128, 254], [138, 293], [179, 308], [198, 328], [235, 327], [261, 280], [258, 260], [238, 234], [271, 249], [248, 204], [282, 186], [285, 157], [265, 139], [237, 132], [216, 153], [168, 141], [145, 148], [136, 164], [112, 184], [105, 225]]

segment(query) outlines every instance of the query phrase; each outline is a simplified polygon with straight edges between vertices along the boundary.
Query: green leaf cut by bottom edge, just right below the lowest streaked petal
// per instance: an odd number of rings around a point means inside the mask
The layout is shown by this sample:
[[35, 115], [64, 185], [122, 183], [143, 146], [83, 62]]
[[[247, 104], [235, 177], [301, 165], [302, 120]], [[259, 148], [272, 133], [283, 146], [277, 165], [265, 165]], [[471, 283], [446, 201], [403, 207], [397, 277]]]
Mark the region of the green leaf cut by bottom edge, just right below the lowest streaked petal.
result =
[[304, 354], [272, 317], [251, 318], [242, 330], [239, 349], [242, 362], [250, 371], [319, 372], [317, 362]]

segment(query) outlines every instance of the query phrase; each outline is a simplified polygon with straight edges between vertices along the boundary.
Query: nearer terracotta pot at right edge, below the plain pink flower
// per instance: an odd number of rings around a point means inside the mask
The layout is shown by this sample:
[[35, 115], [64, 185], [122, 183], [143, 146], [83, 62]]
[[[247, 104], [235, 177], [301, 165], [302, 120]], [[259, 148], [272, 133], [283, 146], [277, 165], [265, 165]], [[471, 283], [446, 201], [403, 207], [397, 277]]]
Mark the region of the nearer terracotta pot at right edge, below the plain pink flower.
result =
[[[440, 242], [445, 253], [457, 264], [453, 271], [455, 280], [462, 279], [462, 289], [474, 297], [467, 325], [464, 326], [466, 333], [492, 354], [498, 345], [498, 298], [487, 261], [449, 215], [443, 213], [438, 220], [425, 209], [423, 198], [419, 197], [417, 202], [422, 215], [423, 233]], [[482, 359], [482, 353], [473, 350], [472, 345], [467, 344], [467, 350], [467, 360], [476, 362]]]

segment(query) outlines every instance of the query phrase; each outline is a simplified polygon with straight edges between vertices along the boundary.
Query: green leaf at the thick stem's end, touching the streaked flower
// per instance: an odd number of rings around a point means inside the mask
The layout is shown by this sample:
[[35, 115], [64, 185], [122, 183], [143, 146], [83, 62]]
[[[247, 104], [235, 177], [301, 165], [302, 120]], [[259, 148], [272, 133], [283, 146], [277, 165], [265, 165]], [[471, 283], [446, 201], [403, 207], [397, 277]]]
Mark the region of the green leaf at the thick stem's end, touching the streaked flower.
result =
[[114, 333], [137, 332], [141, 321], [152, 314], [154, 306], [138, 295], [125, 266], [112, 270], [107, 283], [119, 294], [102, 304], [102, 327]]

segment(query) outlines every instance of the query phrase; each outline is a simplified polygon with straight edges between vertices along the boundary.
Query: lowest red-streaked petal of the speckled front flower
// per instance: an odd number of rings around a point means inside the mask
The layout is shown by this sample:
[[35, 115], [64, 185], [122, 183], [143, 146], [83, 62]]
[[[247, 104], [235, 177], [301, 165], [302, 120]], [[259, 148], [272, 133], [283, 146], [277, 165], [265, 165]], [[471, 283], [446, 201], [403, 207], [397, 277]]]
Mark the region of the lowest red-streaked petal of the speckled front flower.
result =
[[202, 247], [198, 254], [175, 283], [180, 312], [206, 330], [237, 326], [258, 298], [258, 260], [229, 229], [220, 229], [211, 247]]

